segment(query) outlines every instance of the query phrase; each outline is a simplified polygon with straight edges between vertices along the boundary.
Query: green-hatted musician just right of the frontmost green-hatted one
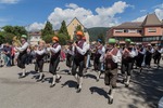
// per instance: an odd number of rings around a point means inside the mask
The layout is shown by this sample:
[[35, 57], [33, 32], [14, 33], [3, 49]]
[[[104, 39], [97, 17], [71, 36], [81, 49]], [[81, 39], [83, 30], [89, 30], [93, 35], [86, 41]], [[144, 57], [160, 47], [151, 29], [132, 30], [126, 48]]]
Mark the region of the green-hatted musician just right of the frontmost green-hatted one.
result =
[[126, 39], [125, 42], [126, 46], [122, 51], [122, 73], [125, 75], [126, 72], [127, 76], [125, 76], [125, 85], [128, 86], [133, 69], [133, 58], [136, 56], [136, 52], [134, 51], [133, 45], [130, 44], [130, 39]]

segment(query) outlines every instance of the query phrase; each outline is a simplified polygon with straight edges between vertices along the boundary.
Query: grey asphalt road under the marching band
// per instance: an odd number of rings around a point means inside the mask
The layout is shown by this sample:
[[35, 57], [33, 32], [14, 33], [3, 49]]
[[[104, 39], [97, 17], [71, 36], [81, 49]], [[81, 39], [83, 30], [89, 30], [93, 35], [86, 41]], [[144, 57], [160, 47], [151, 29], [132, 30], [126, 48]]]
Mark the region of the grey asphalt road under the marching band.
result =
[[[36, 82], [34, 65], [28, 65], [28, 76], [18, 79], [21, 69], [16, 66], [0, 68], [0, 108], [156, 108], [163, 96], [163, 68], [135, 70], [129, 87], [118, 78], [114, 103], [108, 104], [108, 86], [103, 75], [99, 82], [91, 69], [84, 79], [82, 93], [76, 93], [75, 79], [66, 73], [65, 63], [60, 63], [61, 82], [50, 89], [51, 75], [45, 64], [46, 81]], [[163, 62], [161, 64], [163, 66]], [[92, 91], [95, 91], [92, 93]]]

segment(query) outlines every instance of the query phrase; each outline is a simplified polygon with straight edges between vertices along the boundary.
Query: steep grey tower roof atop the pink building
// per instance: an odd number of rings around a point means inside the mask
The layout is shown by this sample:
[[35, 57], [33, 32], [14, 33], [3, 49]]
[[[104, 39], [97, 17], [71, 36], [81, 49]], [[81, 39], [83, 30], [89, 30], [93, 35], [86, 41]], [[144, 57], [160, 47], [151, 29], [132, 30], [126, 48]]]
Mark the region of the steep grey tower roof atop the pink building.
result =
[[162, 23], [155, 15], [155, 13], [148, 14], [141, 26], [161, 26]]

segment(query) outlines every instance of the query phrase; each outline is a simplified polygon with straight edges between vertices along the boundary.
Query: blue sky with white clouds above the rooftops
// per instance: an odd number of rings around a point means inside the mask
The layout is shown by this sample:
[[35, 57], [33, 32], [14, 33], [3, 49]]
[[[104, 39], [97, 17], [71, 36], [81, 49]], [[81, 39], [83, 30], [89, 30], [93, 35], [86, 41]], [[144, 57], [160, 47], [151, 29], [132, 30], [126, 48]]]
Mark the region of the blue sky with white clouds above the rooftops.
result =
[[77, 17], [86, 28], [142, 22], [155, 13], [163, 19], [163, 0], [0, 0], [0, 27], [24, 26], [40, 30], [47, 21], [59, 29]]

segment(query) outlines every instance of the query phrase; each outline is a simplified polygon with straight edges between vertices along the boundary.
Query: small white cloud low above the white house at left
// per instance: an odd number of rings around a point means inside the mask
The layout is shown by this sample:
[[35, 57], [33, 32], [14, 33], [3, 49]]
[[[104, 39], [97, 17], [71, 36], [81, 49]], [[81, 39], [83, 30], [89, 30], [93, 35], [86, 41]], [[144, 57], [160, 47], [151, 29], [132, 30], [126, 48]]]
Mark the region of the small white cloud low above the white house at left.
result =
[[26, 27], [27, 31], [38, 31], [45, 28], [45, 24], [35, 22], [34, 24]]

